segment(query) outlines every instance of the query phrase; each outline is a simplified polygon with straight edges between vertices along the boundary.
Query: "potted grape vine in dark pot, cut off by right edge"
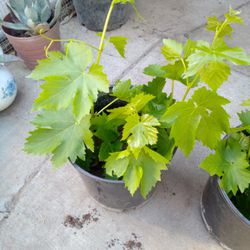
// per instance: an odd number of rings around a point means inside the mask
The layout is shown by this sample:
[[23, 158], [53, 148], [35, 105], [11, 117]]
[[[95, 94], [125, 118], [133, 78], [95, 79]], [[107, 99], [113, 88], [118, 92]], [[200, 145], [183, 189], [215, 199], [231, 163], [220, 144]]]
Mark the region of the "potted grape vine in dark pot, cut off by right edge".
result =
[[[245, 105], [250, 106], [249, 101]], [[203, 192], [201, 214], [223, 246], [244, 250], [250, 245], [250, 110], [238, 115], [241, 126], [231, 128], [201, 163], [212, 176]]]

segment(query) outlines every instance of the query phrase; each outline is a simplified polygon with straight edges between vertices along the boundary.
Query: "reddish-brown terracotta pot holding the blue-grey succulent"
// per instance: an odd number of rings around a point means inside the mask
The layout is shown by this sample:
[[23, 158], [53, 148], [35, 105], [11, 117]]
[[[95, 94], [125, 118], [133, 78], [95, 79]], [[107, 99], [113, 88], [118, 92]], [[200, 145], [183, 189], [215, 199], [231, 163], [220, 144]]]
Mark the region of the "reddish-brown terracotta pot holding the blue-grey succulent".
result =
[[[5, 21], [11, 22], [11, 16], [7, 15], [4, 18]], [[3, 31], [8, 38], [10, 44], [14, 47], [17, 55], [23, 59], [24, 63], [29, 69], [34, 69], [37, 65], [37, 60], [45, 58], [45, 50], [50, 43], [49, 40], [41, 36], [32, 37], [18, 37], [15, 36], [15, 32], [6, 27], [2, 27]], [[49, 31], [45, 33], [47, 37], [59, 39], [60, 30], [59, 23], [56, 23]], [[50, 47], [50, 50], [60, 50], [60, 43], [56, 42]]]

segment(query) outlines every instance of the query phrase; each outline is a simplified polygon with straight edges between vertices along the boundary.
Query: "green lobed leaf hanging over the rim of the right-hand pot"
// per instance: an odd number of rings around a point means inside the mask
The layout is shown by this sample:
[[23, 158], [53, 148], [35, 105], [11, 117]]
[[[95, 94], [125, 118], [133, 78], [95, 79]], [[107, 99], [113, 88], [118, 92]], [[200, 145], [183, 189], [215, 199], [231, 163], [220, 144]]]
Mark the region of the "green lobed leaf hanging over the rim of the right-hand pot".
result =
[[221, 177], [220, 186], [235, 195], [238, 189], [244, 192], [250, 184], [249, 162], [246, 152], [241, 151], [239, 142], [233, 138], [219, 143], [215, 154], [209, 155], [200, 167], [211, 175]]

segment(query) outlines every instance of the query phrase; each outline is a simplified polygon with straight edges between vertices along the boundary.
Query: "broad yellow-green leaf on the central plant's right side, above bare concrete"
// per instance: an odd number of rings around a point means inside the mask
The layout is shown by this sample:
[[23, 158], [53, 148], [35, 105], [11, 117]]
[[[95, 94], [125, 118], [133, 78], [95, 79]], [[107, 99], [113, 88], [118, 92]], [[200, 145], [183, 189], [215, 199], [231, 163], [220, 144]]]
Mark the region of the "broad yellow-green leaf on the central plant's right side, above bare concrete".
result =
[[[177, 102], [168, 108], [162, 122], [171, 126], [170, 138], [189, 155], [195, 139], [214, 148], [224, 131], [229, 129], [229, 116], [222, 108], [229, 101], [202, 87], [187, 102]], [[209, 136], [213, 134], [213, 136]]]

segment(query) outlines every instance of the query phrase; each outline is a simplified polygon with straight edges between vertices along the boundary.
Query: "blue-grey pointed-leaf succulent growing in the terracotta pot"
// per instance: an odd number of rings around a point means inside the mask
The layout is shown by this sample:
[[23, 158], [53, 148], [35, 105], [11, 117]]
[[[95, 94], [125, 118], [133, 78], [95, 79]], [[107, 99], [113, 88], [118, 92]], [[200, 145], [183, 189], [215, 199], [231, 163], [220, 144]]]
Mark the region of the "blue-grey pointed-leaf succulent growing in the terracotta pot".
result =
[[14, 22], [0, 19], [0, 24], [9, 29], [26, 31], [31, 36], [44, 33], [58, 20], [61, 2], [57, 0], [53, 11], [49, 0], [9, 0], [7, 7]]

